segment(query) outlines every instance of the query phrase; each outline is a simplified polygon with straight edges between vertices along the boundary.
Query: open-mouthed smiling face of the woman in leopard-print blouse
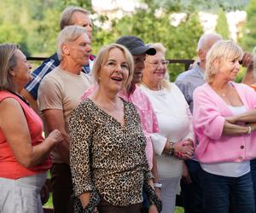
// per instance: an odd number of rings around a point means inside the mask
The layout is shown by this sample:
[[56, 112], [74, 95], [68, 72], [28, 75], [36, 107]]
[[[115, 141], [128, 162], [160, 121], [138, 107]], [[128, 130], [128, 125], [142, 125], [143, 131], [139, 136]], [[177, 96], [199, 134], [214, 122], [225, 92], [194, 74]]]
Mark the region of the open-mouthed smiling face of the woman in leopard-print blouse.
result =
[[129, 67], [123, 51], [118, 48], [110, 49], [108, 59], [99, 72], [99, 86], [118, 93], [124, 89], [128, 75]]

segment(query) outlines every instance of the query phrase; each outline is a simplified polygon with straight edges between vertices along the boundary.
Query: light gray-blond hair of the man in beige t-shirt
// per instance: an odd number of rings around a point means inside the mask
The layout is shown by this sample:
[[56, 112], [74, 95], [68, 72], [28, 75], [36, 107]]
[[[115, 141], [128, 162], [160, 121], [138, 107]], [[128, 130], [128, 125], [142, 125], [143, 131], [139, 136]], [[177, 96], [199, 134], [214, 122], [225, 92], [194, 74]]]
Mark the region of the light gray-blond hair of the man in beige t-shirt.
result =
[[62, 59], [62, 45], [63, 43], [74, 42], [80, 36], [86, 35], [86, 30], [82, 26], [67, 26], [60, 33], [57, 38], [57, 55], [59, 60]]

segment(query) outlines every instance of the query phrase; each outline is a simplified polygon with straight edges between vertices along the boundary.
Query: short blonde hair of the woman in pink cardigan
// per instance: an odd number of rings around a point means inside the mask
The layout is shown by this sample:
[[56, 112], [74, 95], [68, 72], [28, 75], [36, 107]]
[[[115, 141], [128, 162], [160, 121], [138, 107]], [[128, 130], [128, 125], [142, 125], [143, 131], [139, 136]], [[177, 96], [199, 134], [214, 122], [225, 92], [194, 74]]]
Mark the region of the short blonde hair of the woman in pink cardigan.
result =
[[207, 53], [206, 63], [206, 81], [212, 83], [216, 74], [218, 73], [221, 62], [227, 60], [241, 60], [242, 49], [236, 43], [225, 40], [219, 41], [212, 45], [212, 48]]

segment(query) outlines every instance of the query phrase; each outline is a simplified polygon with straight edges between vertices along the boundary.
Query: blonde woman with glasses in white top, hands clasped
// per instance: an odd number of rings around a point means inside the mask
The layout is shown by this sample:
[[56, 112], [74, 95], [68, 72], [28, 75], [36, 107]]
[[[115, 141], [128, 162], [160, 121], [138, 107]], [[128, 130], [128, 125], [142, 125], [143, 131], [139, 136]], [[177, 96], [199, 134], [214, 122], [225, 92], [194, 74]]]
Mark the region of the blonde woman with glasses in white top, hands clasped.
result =
[[[156, 113], [160, 131], [151, 135], [157, 156], [163, 213], [175, 210], [177, 186], [183, 171], [183, 159], [194, 152], [191, 114], [182, 92], [170, 83], [167, 74], [166, 48], [151, 44], [155, 55], [147, 55], [140, 88], [148, 95]], [[160, 186], [160, 184], [156, 184]]]

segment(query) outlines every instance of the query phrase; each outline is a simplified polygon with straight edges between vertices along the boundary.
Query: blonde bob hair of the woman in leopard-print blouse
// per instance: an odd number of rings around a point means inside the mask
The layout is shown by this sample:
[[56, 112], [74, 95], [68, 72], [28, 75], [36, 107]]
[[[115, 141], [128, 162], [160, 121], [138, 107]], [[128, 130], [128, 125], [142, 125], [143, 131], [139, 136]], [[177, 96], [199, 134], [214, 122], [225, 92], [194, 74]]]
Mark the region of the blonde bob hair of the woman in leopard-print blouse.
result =
[[96, 56], [96, 60], [94, 60], [93, 63], [92, 75], [96, 81], [98, 81], [102, 66], [107, 63], [108, 55], [111, 49], [120, 49], [125, 55], [125, 61], [128, 64], [129, 71], [127, 81], [125, 82], [125, 88], [127, 88], [130, 85], [133, 76], [134, 62], [130, 51], [118, 43], [111, 43], [108, 46], [102, 47], [102, 49], [100, 49]]

